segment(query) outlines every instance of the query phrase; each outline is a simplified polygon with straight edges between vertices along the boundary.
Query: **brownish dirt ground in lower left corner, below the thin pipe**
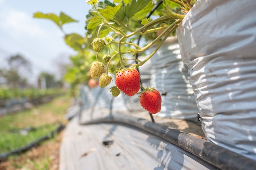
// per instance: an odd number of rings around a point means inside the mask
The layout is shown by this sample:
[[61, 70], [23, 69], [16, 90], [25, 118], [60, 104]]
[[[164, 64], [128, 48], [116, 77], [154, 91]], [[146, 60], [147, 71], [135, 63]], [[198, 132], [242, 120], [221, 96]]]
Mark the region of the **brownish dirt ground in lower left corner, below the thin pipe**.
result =
[[0, 170], [36, 170], [38, 167], [43, 169], [44, 165], [47, 170], [58, 170], [62, 134], [59, 133], [55, 139], [45, 141], [11, 160], [0, 161]]

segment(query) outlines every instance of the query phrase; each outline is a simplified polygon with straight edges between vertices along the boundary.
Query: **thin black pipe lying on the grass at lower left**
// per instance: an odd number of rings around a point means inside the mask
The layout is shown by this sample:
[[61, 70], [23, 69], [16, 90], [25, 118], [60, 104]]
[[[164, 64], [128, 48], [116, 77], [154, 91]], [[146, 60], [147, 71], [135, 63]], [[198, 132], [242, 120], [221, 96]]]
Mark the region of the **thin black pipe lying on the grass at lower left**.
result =
[[6, 152], [6, 153], [1, 154], [0, 155], [0, 161], [3, 160], [3, 159], [6, 159], [10, 155], [19, 154], [21, 152], [25, 152], [26, 150], [29, 150], [30, 148], [33, 148], [34, 146], [37, 146], [40, 142], [52, 138], [55, 133], [61, 132], [61, 130], [63, 130], [64, 128], [65, 128], [65, 126], [63, 124], [60, 124], [55, 130], [48, 133], [48, 135], [40, 137], [39, 139], [36, 139], [35, 141], [32, 141], [31, 143], [29, 143], [29, 144], [27, 144], [27, 145], [25, 145], [21, 148], [11, 150], [10, 152]]

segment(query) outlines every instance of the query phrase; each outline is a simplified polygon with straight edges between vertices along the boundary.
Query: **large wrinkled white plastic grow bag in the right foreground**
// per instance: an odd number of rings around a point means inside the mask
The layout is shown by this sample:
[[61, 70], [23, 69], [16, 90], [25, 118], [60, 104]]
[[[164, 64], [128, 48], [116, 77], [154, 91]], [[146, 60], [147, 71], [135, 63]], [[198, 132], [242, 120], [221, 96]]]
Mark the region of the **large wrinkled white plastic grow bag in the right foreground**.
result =
[[255, 9], [255, 0], [198, 0], [177, 37], [207, 140], [256, 160]]

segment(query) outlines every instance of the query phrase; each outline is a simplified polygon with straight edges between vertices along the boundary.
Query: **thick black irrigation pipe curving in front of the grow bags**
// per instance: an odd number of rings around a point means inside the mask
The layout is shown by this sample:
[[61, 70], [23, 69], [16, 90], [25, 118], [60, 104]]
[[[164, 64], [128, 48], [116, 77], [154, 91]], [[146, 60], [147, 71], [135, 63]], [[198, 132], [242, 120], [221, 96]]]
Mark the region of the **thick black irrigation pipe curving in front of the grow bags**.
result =
[[236, 152], [222, 148], [221, 146], [181, 130], [163, 124], [153, 123], [145, 119], [117, 115], [103, 117], [88, 122], [80, 122], [81, 125], [101, 123], [124, 124], [144, 130], [175, 144], [221, 170], [252, 170], [256, 167], [256, 161], [243, 155], [239, 155]]

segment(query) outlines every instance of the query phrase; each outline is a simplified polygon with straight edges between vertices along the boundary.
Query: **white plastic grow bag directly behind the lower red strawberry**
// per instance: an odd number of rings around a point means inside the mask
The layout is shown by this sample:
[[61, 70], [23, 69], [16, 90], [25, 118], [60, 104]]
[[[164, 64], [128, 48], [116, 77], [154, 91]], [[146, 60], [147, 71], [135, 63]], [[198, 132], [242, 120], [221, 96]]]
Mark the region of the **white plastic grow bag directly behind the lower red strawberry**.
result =
[[[154, 50], [152, 48], [150, 52]], [[169, 37], [150, 62], [150, 85], [162, 94], [162, 108], [157, 116], [198, 121], [188, 67], [182, 62], [177, 38]]]

